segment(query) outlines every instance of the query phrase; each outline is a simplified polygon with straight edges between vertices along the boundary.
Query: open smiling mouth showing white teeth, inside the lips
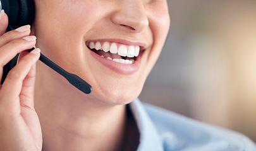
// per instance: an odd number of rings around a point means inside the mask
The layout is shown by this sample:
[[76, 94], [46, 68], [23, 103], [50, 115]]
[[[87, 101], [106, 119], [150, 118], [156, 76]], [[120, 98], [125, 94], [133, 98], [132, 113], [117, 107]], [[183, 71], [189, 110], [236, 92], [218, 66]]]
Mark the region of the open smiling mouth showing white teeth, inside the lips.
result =
[[140, 46], [135, 45], [114, 42], [86, 42], [85, 44], [97, 55], [121, 64], [133, 64], [140, 53]]

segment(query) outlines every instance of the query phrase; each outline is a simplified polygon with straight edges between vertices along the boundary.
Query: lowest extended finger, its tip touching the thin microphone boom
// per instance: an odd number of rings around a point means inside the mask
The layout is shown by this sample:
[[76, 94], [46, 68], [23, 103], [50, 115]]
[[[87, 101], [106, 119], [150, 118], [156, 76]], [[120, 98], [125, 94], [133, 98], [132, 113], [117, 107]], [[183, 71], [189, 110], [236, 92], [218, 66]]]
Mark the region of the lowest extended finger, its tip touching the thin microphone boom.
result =
[[[23, 86], [23, 80], [30, 72], [32, 65], [34, 65], [35, 62], [37, 62], [37, 60], [39, 59], [39, 52], [40, 49], [36, 48], [28, 55], [23, 57], [23, 59], [21, 59], [20, 62], [18, 62], [18, 64], [9, 71], [8, 76], [6, 77], [0, 91], [2, 98], [4, 98], [1, 101], [4, 101], [4, 104], [9, 104], [11, 106], [15, 106], [18, 104], [16, 100], [20, 95], [21, 88]], [[31, 74], [28, 76], [31, 76]]]

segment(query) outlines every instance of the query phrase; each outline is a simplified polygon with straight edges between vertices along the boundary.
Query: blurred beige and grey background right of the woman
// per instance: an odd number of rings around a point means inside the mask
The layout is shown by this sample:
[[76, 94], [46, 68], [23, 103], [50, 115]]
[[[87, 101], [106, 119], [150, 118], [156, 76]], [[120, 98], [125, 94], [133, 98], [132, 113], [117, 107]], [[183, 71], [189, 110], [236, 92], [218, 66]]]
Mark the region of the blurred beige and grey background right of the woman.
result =
[[139, 98], [256, 142], [256, 1], [167, 1], [168, 39]]

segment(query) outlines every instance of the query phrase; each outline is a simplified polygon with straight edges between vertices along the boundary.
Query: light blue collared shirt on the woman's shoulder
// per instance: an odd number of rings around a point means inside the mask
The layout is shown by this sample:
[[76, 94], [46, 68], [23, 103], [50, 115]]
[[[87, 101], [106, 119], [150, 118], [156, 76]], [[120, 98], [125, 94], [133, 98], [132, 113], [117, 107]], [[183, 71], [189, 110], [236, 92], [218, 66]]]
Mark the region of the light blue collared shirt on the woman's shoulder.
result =
[[256, 151], [244, 135], [135, 99], [128, 104], [140, 132], [138, 151]]

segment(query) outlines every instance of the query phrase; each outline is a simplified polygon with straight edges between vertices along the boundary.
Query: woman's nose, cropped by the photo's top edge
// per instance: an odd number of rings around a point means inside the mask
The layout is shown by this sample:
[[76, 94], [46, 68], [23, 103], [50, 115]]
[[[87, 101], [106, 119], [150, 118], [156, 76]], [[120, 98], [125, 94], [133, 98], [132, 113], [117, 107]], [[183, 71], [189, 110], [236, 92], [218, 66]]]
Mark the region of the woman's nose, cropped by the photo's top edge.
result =
[[144, 4], [141, 0], [121, 0], [118, 3], [118, 11], [111, 16], [111, 21], [130, 31], [140, 33], [149, 26], [149, 20]]

